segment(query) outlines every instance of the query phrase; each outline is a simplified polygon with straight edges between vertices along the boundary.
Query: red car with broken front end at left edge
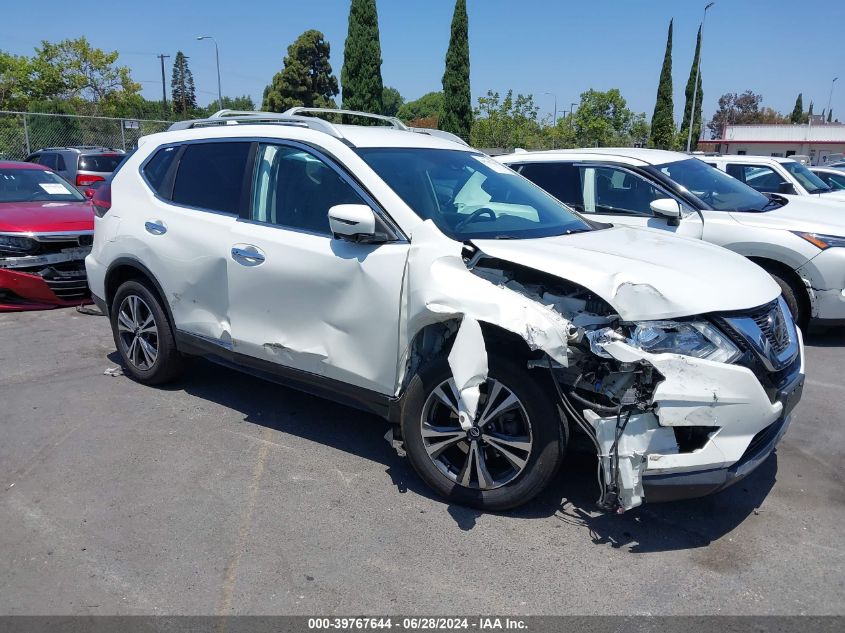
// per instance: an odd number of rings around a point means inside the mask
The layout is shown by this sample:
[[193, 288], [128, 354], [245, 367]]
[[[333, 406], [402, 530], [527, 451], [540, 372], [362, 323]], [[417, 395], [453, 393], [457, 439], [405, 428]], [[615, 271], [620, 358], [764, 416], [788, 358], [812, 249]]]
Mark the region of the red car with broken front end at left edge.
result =
[[90, 302], [91, 202], [34, 163], [0, 161], [0, 312]]

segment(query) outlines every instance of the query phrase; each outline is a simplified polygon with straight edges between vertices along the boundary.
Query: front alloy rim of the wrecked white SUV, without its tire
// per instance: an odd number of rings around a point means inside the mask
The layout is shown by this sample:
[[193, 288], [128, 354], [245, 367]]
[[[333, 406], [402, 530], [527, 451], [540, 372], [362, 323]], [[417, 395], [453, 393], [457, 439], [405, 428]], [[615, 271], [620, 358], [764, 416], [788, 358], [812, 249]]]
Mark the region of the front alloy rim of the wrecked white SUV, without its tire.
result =
[[455, 483], [491, 490], [525, 470], [531, 456], [531, 421], [516, 394], [494, 378], [481, 387], [478, 411], [472, 428], [462, 429], [455, 381], [443, 381], [423, 406], [423, 446], [437, 469]]

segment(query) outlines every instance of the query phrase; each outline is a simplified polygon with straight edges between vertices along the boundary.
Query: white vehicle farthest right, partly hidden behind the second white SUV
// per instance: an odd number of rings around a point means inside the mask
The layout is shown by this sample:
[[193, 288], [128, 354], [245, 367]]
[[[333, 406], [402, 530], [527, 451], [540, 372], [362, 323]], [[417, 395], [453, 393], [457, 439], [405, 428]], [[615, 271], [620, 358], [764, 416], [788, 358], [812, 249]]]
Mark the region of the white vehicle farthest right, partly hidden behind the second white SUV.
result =
[[831, 189], [808, 167], [791, 158], [725, 154], [703, 156], [701, 160], [727, 172], [760, 193], [817, 196], [824, 200], [845, 203], [845, 193]]

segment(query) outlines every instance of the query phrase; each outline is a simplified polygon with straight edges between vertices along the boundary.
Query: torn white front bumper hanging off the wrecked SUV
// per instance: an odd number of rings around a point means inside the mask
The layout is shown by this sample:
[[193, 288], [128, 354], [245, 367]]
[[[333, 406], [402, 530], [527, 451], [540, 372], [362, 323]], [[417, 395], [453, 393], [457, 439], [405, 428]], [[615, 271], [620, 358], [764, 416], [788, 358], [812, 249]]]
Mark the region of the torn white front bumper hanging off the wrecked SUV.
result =
[[[654, 411], [630, 415], [624, 425], [619, 416], [584, 411], [596, 430], [604, 483], [614, 486], [617, 509], [711, 494], [765, 461], [803, 391], [804, 345], [800, 331], [795, 333], [798, 353], [767, 376], [777, 380], [768, 389], [749, 367], [644, 355], [622, 342], [606, 345], [614, 357], [644, 360], [664, 377], [654, 392]], [[700, 445], [684, 445], [689, 432], [699, 434]]]

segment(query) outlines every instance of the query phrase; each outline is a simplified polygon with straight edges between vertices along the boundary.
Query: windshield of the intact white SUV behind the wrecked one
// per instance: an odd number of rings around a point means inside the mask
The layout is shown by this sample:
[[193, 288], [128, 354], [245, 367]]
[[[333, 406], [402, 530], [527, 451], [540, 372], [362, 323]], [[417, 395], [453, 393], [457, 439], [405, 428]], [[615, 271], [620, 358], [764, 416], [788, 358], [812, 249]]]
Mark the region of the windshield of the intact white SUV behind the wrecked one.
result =
[[716, 211], [762, 211], [771, 206], [771, 201], [759, 191], [697, 158], [655, 165], [653, 169]]

